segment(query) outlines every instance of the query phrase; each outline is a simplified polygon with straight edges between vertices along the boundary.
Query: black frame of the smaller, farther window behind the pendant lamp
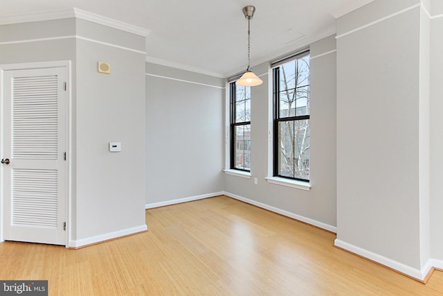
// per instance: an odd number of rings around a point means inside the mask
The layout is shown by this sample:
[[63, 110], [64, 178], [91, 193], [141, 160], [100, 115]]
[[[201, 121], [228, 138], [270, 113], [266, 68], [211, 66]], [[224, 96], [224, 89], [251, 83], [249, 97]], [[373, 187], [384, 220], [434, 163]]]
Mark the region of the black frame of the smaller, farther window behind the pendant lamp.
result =
[[[231, 170], [236, 170], [236, 171], [242, 171], [245, 173], [251, 173], [251, 168], [249, 169], [244, 169], [244, 168], [237, 168], [235, 167], [235, 160], [236, 160], [236, 154], [235, 154], [235, 128], [237, 126], [242, 126], [242, 125], [249, 125], [249, 128], [251, 130], [251, 119], [249, 121], [241, 121], [241, 122], [236, 122], [235, 120], [235, 115], [236, 115], [236, 98], [237, 98], [237, 89], [236, 89], [237, 85], [235, 85], [235, 81], [234, 82], [230, 82], [229, 83], [229, 110], [230, 110], [230, 143], [229, 143], [229, 150], [230, 150], [230, 159], [229, 159], [229, 166]], [[251, 98], [249, 98], [251, 100]], [[251, 137], [251, 136], [250, 136]], [[251, 146], [251, 145], [250, 145]], [[251, 149], [250, 149], [251, 150]], [[250, 160], [250, 164], [251, 164], [251, 160]]]

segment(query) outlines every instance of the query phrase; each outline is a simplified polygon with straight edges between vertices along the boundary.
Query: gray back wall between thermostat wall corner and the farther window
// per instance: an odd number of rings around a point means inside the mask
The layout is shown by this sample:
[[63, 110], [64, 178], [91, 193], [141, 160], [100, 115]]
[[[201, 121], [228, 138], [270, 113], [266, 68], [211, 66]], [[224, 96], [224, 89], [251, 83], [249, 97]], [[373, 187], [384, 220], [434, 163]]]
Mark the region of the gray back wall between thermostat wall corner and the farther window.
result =
[[146, 204], [224, 190], [224, 80], [146, 63]]

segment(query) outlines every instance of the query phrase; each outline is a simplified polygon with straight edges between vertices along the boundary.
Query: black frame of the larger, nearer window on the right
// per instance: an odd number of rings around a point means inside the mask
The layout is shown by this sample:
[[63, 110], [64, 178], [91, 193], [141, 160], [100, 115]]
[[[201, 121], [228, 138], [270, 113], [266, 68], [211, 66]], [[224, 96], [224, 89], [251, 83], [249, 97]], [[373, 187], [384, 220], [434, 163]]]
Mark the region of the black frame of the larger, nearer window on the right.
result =
[[[289, 122], [289, 121], [293, 121], [294, 123], [296, 121], [308, 121], [309, 122], [309, 139], [310, 139], [310, 125], [311, 125], [311, 121], [310, 121], [310, 112], [309, 114], [305, 114], [305, 115], [300, 115], [297, 116], [296, 112], [294, 112], [294, 116], [285, 116], [282, 117], [280, 116], [280, 67], [287, 63], [287, 62], [291, 62], [293, 60], [298, 60], [301, 58], [304, 58], [306, 55], [310, 55], [309, 53], [309, 49], [306, 51], [302, 51], [296, 55], [292, 55], [289, 58], [284, 58], [284, 60], [280, 60], [279, 62], [275, 62], [274, 64], [271, 65], [272, 67], [272, 76], [273, 76], [273, 164], [272, 164], [272, 168], [273, 168], [273, 177], [280, 177], [280, 178], [284, 178], [286, 180], [294, 180], [294, 181], [298, 181], [298, 182], [306, 182], [309, 183], [310, 182], [310, 173], [309, 173], [309, 178], [308, 179], [303, 179], [300, 177], [289, 177], [286, 175], [280, 175], [279, 172], [279, 154], [280, 154], [280, 141], [279, 141], [279, 123], [282, 122]], [[310, 57], [309, 57], [310, 59]], [[309, 63], [310, 64], [310, 63]], [[309, 76], [311, 75], [310, 73], [310, 67], [309, 67]], [[296, 87], [296, 86], [295, 86]], [[309, 81], [309, 92], [310, 92], [310, 87], [311, 87], [311, 83]], [[295, 90], [296, 88], [294, 88]], [[309, 155], [309, 168], [310, 168], [310, 155]]]

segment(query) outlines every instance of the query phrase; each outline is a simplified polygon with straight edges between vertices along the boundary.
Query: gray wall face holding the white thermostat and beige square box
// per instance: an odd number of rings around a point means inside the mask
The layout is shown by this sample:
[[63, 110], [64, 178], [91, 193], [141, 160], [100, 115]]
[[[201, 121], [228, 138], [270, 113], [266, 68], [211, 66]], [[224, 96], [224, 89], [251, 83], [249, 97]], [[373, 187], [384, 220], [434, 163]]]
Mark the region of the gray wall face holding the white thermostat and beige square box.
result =
[[[145, 225], [145, 38], [78, 19], [76, 240]], [[140, 52], [137, 52], [140, 51]], [[111, 64], [98, 73], [97, 62]], [[122, 151], [109, 153], [109, 142]]]

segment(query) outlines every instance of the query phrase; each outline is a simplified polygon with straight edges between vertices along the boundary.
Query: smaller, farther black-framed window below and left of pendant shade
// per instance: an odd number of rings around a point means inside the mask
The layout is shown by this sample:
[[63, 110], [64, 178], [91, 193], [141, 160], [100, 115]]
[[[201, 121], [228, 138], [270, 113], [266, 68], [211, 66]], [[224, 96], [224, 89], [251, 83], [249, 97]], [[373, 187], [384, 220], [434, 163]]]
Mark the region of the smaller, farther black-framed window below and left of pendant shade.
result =
[[230, 168], [251, 171], [251, 87], [230, 83]]

